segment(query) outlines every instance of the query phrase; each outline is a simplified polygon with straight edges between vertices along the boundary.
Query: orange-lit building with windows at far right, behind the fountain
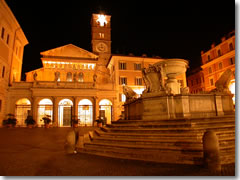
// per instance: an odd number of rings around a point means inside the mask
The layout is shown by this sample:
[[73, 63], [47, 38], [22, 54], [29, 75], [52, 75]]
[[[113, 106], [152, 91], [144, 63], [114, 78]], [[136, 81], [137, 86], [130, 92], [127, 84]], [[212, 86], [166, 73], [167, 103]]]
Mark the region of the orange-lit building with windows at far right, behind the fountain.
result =
[[[235, 31], [230, 32], [221, 39], [221, 43], [207, 52], [201, 52], [202, 66], [192, 70], [187, 77], [191, 93], [211, 91], [215, 88], [216, 81], [227, 69], [233, 71], [229, 90], [235, 94]], [[233, 97], [235, 104], [235, 97]]]

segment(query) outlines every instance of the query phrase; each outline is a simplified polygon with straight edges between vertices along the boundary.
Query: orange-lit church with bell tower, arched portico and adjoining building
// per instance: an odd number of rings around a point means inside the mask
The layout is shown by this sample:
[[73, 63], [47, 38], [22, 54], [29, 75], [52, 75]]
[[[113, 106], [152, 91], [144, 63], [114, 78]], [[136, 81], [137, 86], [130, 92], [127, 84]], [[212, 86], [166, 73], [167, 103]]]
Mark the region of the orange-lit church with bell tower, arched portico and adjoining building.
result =
[[[32, 114], [38, 126], [50, 115], [53, 126], [68, 127], [71, 117], [79, 125], [92, 126], [100, 114], [106, 123], [119, 119], [125, 96], [123, 85], [137, 94], [144, 84], [141, 69], [163, 59], [146, 56], [111, 54], [111, 16], [93, 14], [92, 52], [73, 44], [41, 52], [43, 67], [27, 72], [26, 82], [15, 81], [9, 88], [8, 113], [14, 113], [18, 124]], [[186, 76], [178, 77], [186, 87]]]

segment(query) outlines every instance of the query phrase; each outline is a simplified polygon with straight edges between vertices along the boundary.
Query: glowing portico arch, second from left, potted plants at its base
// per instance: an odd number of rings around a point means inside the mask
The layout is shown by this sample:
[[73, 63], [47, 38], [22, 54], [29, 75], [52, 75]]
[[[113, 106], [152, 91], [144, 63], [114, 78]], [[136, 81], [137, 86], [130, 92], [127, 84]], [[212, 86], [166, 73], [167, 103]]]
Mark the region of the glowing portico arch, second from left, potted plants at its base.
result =
[[41, 119], [46, 115], [49, 115], [51, 120], [53, 120], [53, 103], [50, 99], [42, 99], [38, 103], [37, 123], [39, 126], [44, 125], [44, 122], [41, 121]]

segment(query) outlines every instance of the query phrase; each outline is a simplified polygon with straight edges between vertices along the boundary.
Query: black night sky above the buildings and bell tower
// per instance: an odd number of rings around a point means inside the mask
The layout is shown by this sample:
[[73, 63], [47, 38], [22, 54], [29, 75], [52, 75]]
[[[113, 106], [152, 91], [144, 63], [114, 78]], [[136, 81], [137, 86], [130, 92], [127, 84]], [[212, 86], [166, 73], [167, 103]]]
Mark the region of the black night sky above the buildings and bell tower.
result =
[[40, 52], [72, 43], [91, 51], [91, 14], [112, 16], [112, 53], [184, 58], [201, 64], [209, 50], [235, 29], [233, 0], [6, 0], [29, 44], [23, 73], [42, 67]]

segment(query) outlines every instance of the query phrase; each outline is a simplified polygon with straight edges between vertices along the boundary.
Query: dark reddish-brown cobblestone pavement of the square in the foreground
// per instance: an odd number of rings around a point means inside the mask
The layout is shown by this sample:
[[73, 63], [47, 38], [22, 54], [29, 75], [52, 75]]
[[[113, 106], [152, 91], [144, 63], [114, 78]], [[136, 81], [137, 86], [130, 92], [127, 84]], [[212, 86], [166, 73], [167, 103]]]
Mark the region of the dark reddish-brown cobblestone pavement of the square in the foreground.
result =
[[[199, 166], [160, 164], [78, 153], [67, 155], [70, 128], [0, 128], [1, 176], [206, 176]], [[80, 133], [93, 127], [80, 128]], [[234, 175], [235, 166], [222, 175]]]

